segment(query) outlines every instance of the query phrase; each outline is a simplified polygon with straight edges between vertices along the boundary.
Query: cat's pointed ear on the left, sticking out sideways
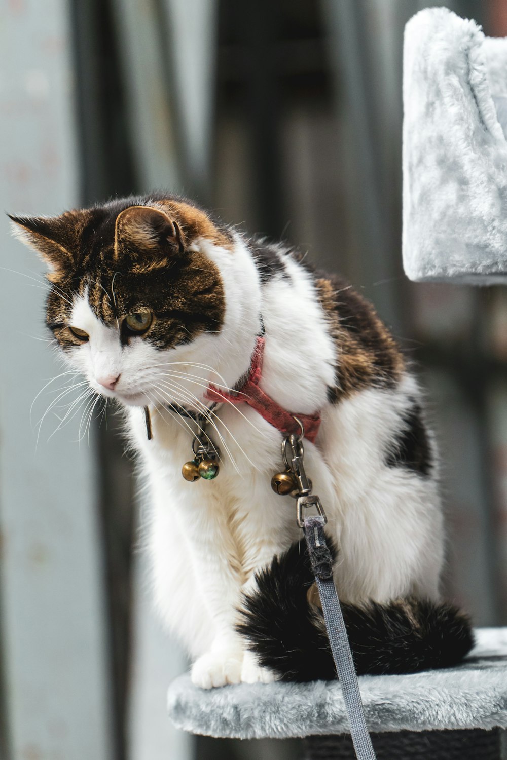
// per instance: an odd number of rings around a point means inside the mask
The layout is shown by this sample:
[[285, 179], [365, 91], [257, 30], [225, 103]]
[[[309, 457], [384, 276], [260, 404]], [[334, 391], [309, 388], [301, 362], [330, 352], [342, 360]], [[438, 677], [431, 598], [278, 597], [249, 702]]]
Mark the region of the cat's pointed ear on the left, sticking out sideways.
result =
[[70, 269], [74, 263], [78, 220], [72, 211], [59, 217], [14, 217], [12, 232], [38, 253], [54, 272]]

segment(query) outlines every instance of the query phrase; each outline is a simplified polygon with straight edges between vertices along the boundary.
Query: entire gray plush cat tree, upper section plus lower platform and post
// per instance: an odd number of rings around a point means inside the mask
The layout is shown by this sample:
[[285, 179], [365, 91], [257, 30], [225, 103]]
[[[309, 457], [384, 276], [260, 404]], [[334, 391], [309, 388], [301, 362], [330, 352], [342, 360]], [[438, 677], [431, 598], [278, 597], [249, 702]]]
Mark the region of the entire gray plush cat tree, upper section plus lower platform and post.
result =
[[[507, 278], [507, 40], [445, 8], [404, 43], [403, 257], [412, 280]], [[361, 676], [377, 758], [507, 758], [507, 629], [479, 629], [458, 667]], [[353, 758], [338, 682], [170, 686], [177, 727], [208, 736], [306, 737], [307, 758]]]

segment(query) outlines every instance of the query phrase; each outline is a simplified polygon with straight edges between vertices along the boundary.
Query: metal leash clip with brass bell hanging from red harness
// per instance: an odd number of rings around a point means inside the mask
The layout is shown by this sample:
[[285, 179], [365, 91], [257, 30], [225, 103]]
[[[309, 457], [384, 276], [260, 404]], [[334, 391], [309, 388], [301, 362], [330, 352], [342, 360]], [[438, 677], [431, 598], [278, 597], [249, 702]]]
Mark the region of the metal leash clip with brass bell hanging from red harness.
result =
[[[299, 527], [303, 527], [306, 509], [315, 507], [324, 522], [328, 518], [325, 515], [321, 500], [318, 496], [312, 495], [312, 481], [306, 476], [305, 466], [303, 463], [305, 450], [303, 448], [303, 436], [305, 430], [300, 420], [294, 417], [301, 432], [299, 435], [291, 433], [284, 438], [282, 442], [282, 458], [287, 470], [284, 473], [277, 473], [271, 478], [271, 488], [281, 496], [290, 494], [296, 501], [296, 520]], [[290, 449], [287, 454], [287, 449]]]

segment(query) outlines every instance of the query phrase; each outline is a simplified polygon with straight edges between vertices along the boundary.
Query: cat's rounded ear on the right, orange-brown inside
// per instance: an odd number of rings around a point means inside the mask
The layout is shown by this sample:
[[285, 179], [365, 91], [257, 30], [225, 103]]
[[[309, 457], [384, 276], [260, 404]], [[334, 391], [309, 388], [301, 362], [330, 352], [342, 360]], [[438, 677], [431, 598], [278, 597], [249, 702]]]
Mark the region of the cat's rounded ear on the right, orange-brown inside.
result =
[[131, 253], [165, 257], [182, 253], [185, 244], [176, 220], [151, 206], [130, 206], [116, 218], [115, 254], [124, 247]]

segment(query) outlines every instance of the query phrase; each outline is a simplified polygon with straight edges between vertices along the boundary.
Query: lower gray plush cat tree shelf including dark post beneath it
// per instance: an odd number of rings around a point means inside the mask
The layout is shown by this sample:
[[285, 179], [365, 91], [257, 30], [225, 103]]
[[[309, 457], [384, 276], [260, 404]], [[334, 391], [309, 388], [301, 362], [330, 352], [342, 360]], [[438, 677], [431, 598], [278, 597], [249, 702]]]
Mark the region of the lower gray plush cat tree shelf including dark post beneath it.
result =
[[[476, 638], [458, 667], [360, 677], [379, 760], [427, 758], [429, 751], [433, 760], [507, 758], [507, 629], [478, 629]], [[168, 706], [176, 727], [192, 733], [239, 739], [306, 736], [310, 758], [354, 756], [338, 682], [204, 690], [185, 675], [170, 686]], [[336, 734], [341, 736], [330, 736]]]

